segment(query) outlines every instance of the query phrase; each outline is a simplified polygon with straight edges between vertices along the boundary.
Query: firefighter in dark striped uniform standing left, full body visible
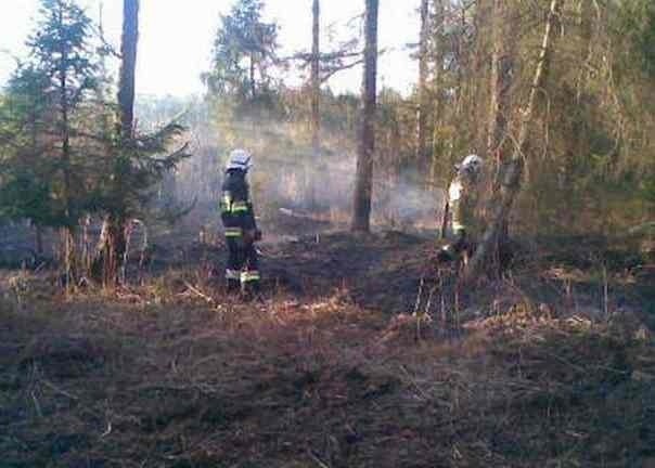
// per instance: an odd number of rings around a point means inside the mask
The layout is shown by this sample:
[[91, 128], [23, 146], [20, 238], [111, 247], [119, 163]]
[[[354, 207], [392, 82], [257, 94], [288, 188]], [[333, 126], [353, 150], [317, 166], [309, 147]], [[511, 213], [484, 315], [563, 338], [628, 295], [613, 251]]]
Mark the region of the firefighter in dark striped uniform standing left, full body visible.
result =
[[253, 295], [259, 289], [259, 270], [255, 242], [261, 238], [251, 203], [246, 176], [253, 157], [245, 150], [230, 153], [220, 199], [221, 219], [228, 244], [226, 280], [229, 291]]

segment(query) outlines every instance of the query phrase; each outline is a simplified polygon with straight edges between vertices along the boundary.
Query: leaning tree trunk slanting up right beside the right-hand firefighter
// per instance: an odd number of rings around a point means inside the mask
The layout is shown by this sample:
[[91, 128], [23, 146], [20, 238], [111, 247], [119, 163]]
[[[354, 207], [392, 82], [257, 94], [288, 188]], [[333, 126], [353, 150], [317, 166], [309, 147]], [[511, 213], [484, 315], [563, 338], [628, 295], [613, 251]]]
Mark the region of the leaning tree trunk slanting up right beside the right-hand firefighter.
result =
[[512, 160], [504, 172], [499, 199], [492, 209], [491, 222], [487, 226], [480, 244], [475, 255], [468, 262], [464, 272], [463, 281], [465, 283], [476, 278], [483, 270], [484, 262], [492, 251], [496, 240], [502, 230], [503, 223], [508, 219], [516, 196], [521, 191], [521, 178], [524, 169], [524, 157], [529, 151], [530, 126], [535, 118], [537, 98], [542, 92], [543, 86], [548, 79], [549, 63], [552, 54], [553, 32], [558, 21], [563, 0], [551, 0], [545, 31], [541, 43], [539, 61], [535, 69], [531, 89], [525, 108], [522, 112], [522, 121], [518, 133], [517, 145], [512, 155]]

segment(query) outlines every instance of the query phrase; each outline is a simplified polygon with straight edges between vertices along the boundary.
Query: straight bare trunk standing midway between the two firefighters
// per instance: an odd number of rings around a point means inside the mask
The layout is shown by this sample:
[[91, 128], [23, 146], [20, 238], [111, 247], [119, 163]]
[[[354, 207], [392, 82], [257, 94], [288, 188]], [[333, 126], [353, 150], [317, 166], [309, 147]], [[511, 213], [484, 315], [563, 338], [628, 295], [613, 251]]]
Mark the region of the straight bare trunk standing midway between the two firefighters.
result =
[[377, 11], [378, 0], [367, 0], [365, 49], [362, 82], [362, 123], [357, 155], [357, 179], [352, 231], [371, 229], [371, 197], [373, 192], [373, 157], [375, 152], [375, 108], [377, 98]]

